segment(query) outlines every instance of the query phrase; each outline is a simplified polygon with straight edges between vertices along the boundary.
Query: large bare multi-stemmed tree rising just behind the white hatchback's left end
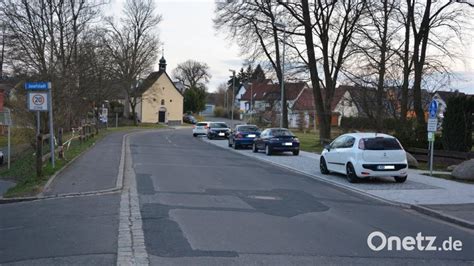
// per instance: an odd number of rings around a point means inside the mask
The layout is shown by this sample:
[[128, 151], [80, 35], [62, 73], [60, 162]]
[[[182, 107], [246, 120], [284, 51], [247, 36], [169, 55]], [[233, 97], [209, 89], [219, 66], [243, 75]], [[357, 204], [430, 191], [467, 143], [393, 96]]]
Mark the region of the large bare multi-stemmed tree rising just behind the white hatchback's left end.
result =
[[[280, 4], [291, 13], [295, 23], [302, 28], [307, 67], [320, 122], [320, 139], [322, 141], [330, 139], [331, 102], [341, 68], [351, 56], [348, 46], [365, 10], [366, 1], [317, 0], [309, 4], [308, 0], [301, 0], [301, 2], [281, 1]], [[316, 49], [321, 58], [317, 57]]]

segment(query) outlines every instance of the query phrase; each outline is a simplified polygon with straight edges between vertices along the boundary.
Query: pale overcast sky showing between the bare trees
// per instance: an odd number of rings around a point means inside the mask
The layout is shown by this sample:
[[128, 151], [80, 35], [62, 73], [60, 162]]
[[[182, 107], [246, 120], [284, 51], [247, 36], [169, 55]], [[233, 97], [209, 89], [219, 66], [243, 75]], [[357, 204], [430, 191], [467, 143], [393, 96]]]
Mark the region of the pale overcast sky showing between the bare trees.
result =
[[[244, 57], [239, 49], [231, 45], [225, 36], [216, 33], [213, 0], [155, 0], [157, 12], [163, 17], [159, 24], [160, 40], [164, 43], [167, 72], [171, 74], [177, 64], [188, 59], [205, 62], [210, 67], [212, 79], [209, 90], [214, 91], [220, 83], [231, 75], [229, 69], [239, 70]], [[121, 12], [124, 0], [111, 0], [113, 13]], [[466, 48], [463, 60], [453, 69], [462, 72], [453, 86], [474, 94], [474, 32], [465, 37]], [[160, 49], [161, 53], [161, 49]], [[161, 58], [161, 54], [160, 54]], [[464, 73], [467, 72], [467, 73]]]

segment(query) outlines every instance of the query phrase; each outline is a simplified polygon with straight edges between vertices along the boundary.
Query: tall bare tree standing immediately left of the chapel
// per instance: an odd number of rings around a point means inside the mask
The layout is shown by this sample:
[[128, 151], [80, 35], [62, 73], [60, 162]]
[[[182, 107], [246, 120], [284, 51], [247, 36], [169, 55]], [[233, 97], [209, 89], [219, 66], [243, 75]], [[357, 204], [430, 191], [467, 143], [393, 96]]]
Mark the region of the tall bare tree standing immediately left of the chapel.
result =
[[138, 80], [151, 71], [158, 55], [156, 27], [161, 16], [152, 0], [127, 0], [120, 25], [108, 18], [107, 49], [113, 59], [114, 73], [127, 95], [135, 125], [140, 92]]

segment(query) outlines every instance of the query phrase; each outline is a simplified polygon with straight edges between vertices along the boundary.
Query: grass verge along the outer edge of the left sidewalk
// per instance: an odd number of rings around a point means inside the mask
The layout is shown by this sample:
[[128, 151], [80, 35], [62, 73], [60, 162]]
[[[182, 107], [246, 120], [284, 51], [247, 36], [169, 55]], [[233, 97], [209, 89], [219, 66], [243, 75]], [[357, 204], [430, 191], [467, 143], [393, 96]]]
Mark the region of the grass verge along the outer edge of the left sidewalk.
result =
[[99, 135], [91, 138], [82, 144], [79, 140], [74, 140], [69, 147], [69, 150], [65, 150], [65, 159], [57, 159], [55, 161], [55, 167], [53, 168], [51, 163], [48, 162], [43, 165], [43, 175], [41, 177], [36, 176], [36, 157], [34, 151], [29, 149], [25, 151], [21, 156], [11, 163], [11, 167], [8, 170], [6, 167], [0, 169], [0, 178], [13, 180], [16, 183], [14, 187], [11, 187], [3, 196], [5, 198], [13, 197], [28, 197], [35, 196], [40, 193], [48, 182], [49, 178], [54, 175], [57, 171], [62, 169], [67, 163], [72, 161], [74, 158], [94, 146], [96, 142], [100, 141], [106, 135], [134, 129], [151, 129], [151, 128], [165, 128], [164, 125], [140, 125], [137, 127], [127, 126], [118, 128], [109, 128], [107, 130], [101, 130]]

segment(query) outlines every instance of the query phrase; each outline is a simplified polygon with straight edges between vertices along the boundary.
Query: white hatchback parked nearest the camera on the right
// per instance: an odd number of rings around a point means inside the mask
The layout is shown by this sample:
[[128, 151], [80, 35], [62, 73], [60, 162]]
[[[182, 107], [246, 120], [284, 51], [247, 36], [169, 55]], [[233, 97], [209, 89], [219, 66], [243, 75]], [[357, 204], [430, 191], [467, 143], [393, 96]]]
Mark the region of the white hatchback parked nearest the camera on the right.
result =
[[380, 133], [350, 133], [324, 147], [319, 167], [322, 174], [345, 174], [353, 183], [359, 178], [393, 176], [407, 179], [408, 162], [400, 142]]

